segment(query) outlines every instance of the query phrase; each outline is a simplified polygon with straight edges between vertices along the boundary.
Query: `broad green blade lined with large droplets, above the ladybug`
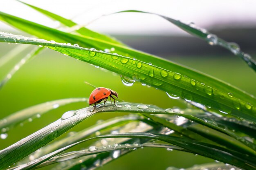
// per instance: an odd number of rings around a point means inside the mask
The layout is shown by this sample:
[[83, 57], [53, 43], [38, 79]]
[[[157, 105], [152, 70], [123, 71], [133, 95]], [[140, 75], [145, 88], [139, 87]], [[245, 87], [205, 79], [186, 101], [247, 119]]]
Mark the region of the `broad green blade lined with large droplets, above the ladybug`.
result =
[[189, 77], [180, 75], [179, 73], [174, 73], [140, 60], [97, 51], [95, 49], [86, 49], [76, 45], [72, 46], [17, 35], [12, 35], [10, 37], [9, 34], [6, 33], [0, 35], [0, 42], [47, 46], [50, 49], [69, 55], [78, 60], [106, 68], [115, 73], [135, 79], [141, 83], [149, 84], [150, 86], [166, 91], [167, 93], [193, 100], [204, 104], [205, 106], [209, 106], [211, 109], [220, 110], [220, 113], [230, 113], [233, 116], [256, 122], [256, 100], [250, 104], [247, 99], [243, 101], [236, 97], [230, 97], [230, 94], [223, 92], [222, 88], [212, 88], [201, 84], [200, 82], [196, 82]]

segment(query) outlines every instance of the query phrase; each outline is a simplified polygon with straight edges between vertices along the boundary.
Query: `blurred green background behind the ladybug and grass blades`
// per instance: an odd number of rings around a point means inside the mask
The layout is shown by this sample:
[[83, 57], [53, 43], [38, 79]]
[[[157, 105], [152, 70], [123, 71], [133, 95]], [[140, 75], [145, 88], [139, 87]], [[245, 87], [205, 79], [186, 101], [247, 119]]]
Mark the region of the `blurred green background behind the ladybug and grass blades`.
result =
[[[123, 41], [126, 40], [125, 37], [119, 38]], [[197, 39], [194, 40], [197, 41]], [[130, 45], [132, 45], [131, 42]], [[8, 51], [15, 49], [16, 46], [16, 44], [1, 43], [0, 57]], [[136, 44], [134, 46], [136, 46]], [[158, 44], [158, 46], [161, 46], [161, 44]], [[206, 46], [208, 45], [206, 44]], [[31, 46], [30, 49], [33, 49], [33, 47], [34, 46]], [[216, 47], [208, 46], [207, 48], [211, 49]], [[146, 49], [143, 50], [147, 51]], [[172, 53], [161, 54], [158, 52], [156, 52], [156, 54], [173, 62], [209, 74], [243, 89], [252, 95], [256, 95], [255, 73], [242, 60], [231, 53], [222, 53], [220, 51], [214, 52], [214, 50], [209, 53], [205, 50], [204, 53], [199, 51], [198, 53], [196, 51], [194, 53], [189, 53], [187, 51], [187, 46], [183, 46], [184, 54], [182, 55], [175, 55]], [[0, 68], [0, 78], [2, 79], [8, 71], [22, 59], [22, 57], [25, 57], [26, 53], [27, 52], [20, 53], [15, 59]], [[72, 57], [62, 55], [61, 53], [50, 49], [45, 49], [33, 60], [30, 60], [25, 66], [20, 68], [10, 81], [0, 89], [0, 119], [23, 108], [47, 101], [69, 97], [89, 97], [93, 88], [84, 84], [84, 81], [90, 82], [95, 86], [111, 88], [119, 93], [120, 99], [127, 102], [155, 104], [162, 108], [171, 108], [173, 106], [178, 106], [180, 108], [186, 107], [184, 102], [169, 98], [163, 91], [148, 86], [142, 86], [138, 82], [133, 86], [125, 86], [122, 84], [120, 76], [115, 73], [96, 68], [88, 63], [75, 60]], [[76, 110], [87, 106], [87, 103], [81, 102], [69, 104], [45, 113], [40, 118], [35, 118], [31, 122], [26, 121], [23, 126], [16, 126], [16, 128], [13, 128], [8, 132], [7, 139], [0, 139], [0, 150], [10, 146], [27, 135], [30, 135], [40, 128], [47, 126], [56, 119], [59, 119], [66, 111]], [[79, 131], [91, 126], [99, 119], [109, 119], [120, 115], [123, 115], [123, 113], [100, 113], [86, 119], [69, 132]], [[59, 138], [66, 135], [68, 135], [68, 133], [61, 135]], [[88, 146], [88, 144], [85, 143], [77, 146], [75, 149], [78, 150], [86, 146]], [[162, 148], [144, 148], [135, 150], [100, 169], [130, 170], [138, 169], [139, 167], [141, 170], [164, 170], [168, 166], [186, 168], [193, 166], [194, 164], [212, 161], [214, 160], [184, 152], [167, 151]], [[45, 169], [49, 169], [49, 167]]]

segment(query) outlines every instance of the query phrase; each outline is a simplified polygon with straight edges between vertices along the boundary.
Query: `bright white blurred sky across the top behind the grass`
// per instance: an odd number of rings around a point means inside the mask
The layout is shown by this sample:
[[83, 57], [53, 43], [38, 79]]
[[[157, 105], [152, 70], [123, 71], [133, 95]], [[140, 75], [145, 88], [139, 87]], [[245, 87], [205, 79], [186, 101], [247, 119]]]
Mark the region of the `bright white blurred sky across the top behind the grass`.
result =
[[[101, 15], [121, 10], [141, 10], [166, 15], [203, 28], [256, 26], [255, 0], [23, 0], [51, 11], [78, 24], [88, 24]], [[0, 11], [27, 20], [56, 27], [43, 14], [16, 0], [0, 0]], [[101, 17], [88, 24], [94, 31], [108, 34], [186, 35], [168, 21], [144, 13], [119, 13]], [[11, 32], [11, 27], [0, 22], [0, 30]]]

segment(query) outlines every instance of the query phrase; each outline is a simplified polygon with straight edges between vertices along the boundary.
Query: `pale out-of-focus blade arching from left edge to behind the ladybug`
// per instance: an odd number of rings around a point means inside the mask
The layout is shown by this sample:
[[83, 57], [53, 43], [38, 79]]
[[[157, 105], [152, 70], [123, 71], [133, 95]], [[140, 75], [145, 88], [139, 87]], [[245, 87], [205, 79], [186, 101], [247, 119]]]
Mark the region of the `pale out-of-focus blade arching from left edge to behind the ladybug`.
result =
[[45, 102], [42, 104], [31, 106], [29, 108], [22, 109], [18, 112], [12, 113], [7, 117], [4, 117], [3, 119], [0, 119], [0, 129], [2, 129], [2, 132], [6, 132], [7, 128], [10, 129], [22, 121], [25, 121], [33, 117], [40, 117], [40, 115], [48, 112], [49, 110], [58, 108], [59, 106], [64, 106], [66, 104], [74, 103], [74, 102], [88, 102], [88, 99], [87, 98], [59, 99], [59, 100]]

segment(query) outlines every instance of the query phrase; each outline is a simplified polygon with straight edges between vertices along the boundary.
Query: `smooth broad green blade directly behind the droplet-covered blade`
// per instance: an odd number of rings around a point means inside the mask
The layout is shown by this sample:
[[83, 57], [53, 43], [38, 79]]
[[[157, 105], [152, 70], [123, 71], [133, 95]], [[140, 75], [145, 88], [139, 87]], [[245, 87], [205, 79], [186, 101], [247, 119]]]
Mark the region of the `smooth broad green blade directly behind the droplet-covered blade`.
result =
[[[32, 35], [36, 35], [37, 37], [44, 38], [46, 40], [54, 40], [57, 42], [79, 44], [80, 46], [83, 46], [83, 47], [96, 48], [98, 50], [115, 48], [115, 53], [118, 53], [119, 55], [128, 56], [130, 58], [135, 58], [139, 61], [143, 61], [145, 65], [147, 65], [149, 63], [153, 63], [156, 66], [161, 66], [164, 70], [172, 69], [173, 72], [176, 72], [176, 73], [179, 73], [180, 75], [189, 77], [189, 79], [192, 80], [191, 85], [193, 87], [197, 87], [197, 86], [200, 87], [201, 83], [202, 83], [202, 84], [205, 84], [206, 88], [207, 88], [207, 86], [211, 86], [213, 89], [221, 89], [221, 91], [224, 93], [224, 95], [223, 95], [224, 98], [227, 97], [228, 94], [232, 93], [234, 98], [236, 97], [237, 99], [241, 99], [242, 101], [247, 101], [248, 102], [247, 108], [252, 108], [251, 104], [253, 106], [255, 106], [255, 103], [256, 103], [255, 97], [249, 95], [245, 91], [239, 90], [238, 88], [236, 88], [234, 86], [228, 85], [228, 84], [226, 84], [220, 80], [217, 80], [209, 75], [204, 75], [198, 71], [193, 71], [192, 69], [186, 68], [184, 66], [179, 66], [179, 65], [177, 65], [173, 62], [170, 62], [168, 60], [164, 60], [164, 59], [161, 59], [161, 58], [153, 56], [153, 55], [149, 55], [146, 53], [142, 53], [140, 51], [136, 51], [134, 49], [130, 49], [127, 46], [113, 44], [110, 42], [106, 42], [104, 40], [90, 38], [88, 36], [82, 36], [82, 35], [80, 36], [80, 35], [65, 33], [63, 31], [58, 31], [56, 29], [52, 29], [47, 26], [36, 24], [34, 22], [30, 22], [30, 21], [15, 17], [13, 15], [9, 15], [9, 14], [3, 13], [3, 12], [0, 12], [0, 20], [7, 22], [8, 24], [11, 24], [11, 26], [15, 26], [16, 28], [21, 29], [22, 31], [25, 31]], [[54, 42], [54, 41], [52, 41], [52, 42]], [[136, 65], [137, 64], [135, 64], [135, 66]], [[138, 66], [140, 66], [140, 64]], [[162, 76], [170, 77], [165, 72], [162, 72], [161, 77]], [[130, 78], [132, 78], [132, 77], [130, 77]], [[150, 85], [152, 85], [152, 84], [150, 84]], [[208, 91], [208, 90], [206, 89], [206, 91]], [[179, 95], [182, 98], [184, 97], [180, 93], [175, 93], [175, 90], [173, 90], [171, 94]], [[185, 96], [185, 97], [189, 97], [189, 96]], [[221, 97], [222, 97], [222, 95], [221, 95]], [[191, 98], [191, 96], [189, 98]], [[221, 101], [222, 98], [219, 99], [218, 97], [216, 97], [215, 100]], [[223, 103], [223, 102], [221, 101], [221, 103]], [[236, 106], [237, 109], [240, 109], [240, 107], [241, 107], [240, 106], [241, 104], [236, 101], [234, 101], [234, 103], [232, 103], [232, 105]], [[244, 106], [245, 105], [243, 104], [242, 107], [244, 107]], [[225, 110], [226, 109], [224, 109], [222, 111], [226, 112]], [[256, 110], [256, 109], [254, 109], [254, 110]]]

